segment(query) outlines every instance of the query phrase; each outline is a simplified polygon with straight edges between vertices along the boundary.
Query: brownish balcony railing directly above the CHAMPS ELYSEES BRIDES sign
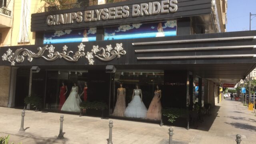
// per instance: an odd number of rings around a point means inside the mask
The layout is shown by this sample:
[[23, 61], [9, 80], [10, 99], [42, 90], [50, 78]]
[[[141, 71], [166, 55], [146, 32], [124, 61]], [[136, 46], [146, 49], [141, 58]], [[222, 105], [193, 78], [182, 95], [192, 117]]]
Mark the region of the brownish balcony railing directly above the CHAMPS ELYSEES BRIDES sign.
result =
[[[114, 3], [114, 2], [123, 2], [126, 0], [106, 0], [106, 3]], [[59, 6], [48, 6], [44, 8], [45, 12], [50, 12], [54, 10], [66, 10], [71, 8], [80, 8], [86, 6], [95, 6], [98, 5], [98, 0], [85, 0], [84, 2], [72, 3], [72, 4], [62, 4]]]

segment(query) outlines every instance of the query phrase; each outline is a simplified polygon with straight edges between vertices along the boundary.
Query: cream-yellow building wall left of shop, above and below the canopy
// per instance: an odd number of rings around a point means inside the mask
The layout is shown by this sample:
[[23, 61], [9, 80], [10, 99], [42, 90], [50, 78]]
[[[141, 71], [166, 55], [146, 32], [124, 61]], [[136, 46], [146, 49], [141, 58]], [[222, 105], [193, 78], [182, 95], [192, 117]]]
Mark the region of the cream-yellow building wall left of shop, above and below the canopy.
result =
[[[0, 46], [35, 44], [35, 33], [30, 31], [30, 18], [31, 14], [43, 11], [44, 3], [40, 1], [0, 0]], [[11, 70], [11, 67], [0, 66], [0, 106], [4, 107], [14, 106], [8, 101], [13, 90], [10, 88]]]

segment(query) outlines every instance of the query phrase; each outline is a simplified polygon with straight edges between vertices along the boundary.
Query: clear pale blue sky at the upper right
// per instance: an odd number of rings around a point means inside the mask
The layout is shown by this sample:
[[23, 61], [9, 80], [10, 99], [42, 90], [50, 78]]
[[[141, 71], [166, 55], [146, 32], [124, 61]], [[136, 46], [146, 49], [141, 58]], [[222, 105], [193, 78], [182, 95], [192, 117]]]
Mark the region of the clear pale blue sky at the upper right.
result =
[[[256, 0], [228, 0], [227, 32], [249, 30], [250, 12], [256, 14]], [[256, 16], [252, 16], [251, 30], [256, 30]]]

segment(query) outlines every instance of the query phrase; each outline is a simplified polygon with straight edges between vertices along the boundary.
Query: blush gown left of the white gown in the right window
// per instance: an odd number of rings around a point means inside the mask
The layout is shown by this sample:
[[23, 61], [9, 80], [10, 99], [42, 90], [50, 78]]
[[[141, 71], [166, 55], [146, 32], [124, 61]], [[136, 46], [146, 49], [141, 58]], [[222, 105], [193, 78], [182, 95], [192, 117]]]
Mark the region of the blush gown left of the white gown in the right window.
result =
[[116, 106], [113, 112], [114, 116], [124, 116], [124, 111], [126, 108], [126, 103], [125, 103], [125, 89], [124, 88], [118, 88], [118, 96], [116, 100]]

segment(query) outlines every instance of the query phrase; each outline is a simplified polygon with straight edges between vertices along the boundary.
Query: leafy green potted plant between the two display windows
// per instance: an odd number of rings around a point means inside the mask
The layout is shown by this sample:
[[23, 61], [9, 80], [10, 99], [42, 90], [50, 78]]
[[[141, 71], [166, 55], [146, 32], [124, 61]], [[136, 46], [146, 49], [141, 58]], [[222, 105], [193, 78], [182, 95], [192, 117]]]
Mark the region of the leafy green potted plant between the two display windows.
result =
[[[89, 102], [89, 101], [86, 101], [86, 102], [81, 102], [80, 103], [80, 108], [81, 109], [89, 109], [89, 110], [94, 109], [96, 111], [100, 110], [101, 111], [101, 118], [103, 118], [104, 110], [106, 110], [108, 108], [108, 105], [105, 102], [97, 102], [97, 101]], [[95, 114], [95, 112], [94, 112], [94, 114]]]

